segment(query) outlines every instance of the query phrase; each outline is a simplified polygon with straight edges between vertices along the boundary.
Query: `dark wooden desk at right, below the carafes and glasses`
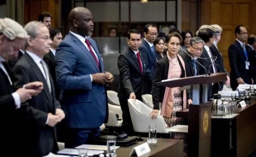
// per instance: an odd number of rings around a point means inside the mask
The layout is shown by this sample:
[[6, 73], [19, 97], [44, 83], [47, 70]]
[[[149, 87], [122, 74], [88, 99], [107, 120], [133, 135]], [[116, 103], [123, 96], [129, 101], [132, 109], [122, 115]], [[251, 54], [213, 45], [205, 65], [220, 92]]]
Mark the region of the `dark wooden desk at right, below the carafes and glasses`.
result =
[[[183, 110], [176, 116], [188, 118], [188, 113]], [[237, 108], [236, 113], [230, 118], [212, 117], [212, 157], [248, 157], [256, 150], [256, 100]]]

